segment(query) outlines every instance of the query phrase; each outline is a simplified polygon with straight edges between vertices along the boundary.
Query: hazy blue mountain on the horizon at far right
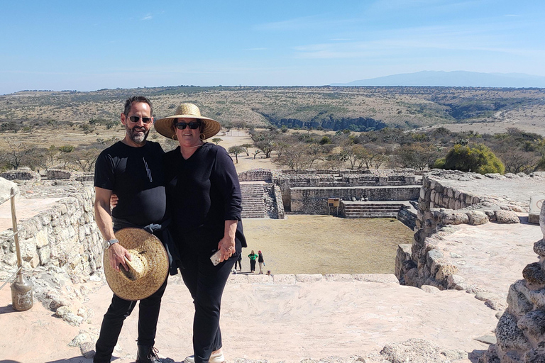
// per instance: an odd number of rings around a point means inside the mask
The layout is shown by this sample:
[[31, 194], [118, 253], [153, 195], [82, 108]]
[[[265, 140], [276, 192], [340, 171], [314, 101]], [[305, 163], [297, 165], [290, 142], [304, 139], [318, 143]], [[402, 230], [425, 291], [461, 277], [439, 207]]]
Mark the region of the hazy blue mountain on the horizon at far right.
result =
[[545, 88], [545, 77], [523, 73], [480, 73], [466, 71], [422, 71], [360, 79], [331, 86], [447, 86]]

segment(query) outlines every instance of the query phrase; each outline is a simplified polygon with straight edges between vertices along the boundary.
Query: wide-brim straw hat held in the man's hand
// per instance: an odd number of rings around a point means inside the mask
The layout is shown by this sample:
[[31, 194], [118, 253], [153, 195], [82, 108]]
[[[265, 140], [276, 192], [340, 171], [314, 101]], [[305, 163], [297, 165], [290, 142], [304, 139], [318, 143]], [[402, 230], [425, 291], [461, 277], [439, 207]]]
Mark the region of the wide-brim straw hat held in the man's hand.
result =
[[159, 238], [140, 228], [123, 228], [116, 232], [119, 244], [131, 253], [129, 270], [110, 266], [110, 254], [104, 251], [104, 274], [114, 294], [125, 300], [141, 300], [158, 291], [168, 275], [168, 256]]

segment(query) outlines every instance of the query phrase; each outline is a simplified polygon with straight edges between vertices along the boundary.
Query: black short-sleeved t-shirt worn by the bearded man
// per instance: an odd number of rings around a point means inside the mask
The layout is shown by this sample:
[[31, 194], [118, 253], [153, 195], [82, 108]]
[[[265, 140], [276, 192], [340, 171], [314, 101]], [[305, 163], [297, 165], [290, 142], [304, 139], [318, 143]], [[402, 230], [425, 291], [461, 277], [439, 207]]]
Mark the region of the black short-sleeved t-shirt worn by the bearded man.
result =
[[103, 150], [94, 169], [94, 186], [119, 197], [112, 211], [114, 226], [160, 223], [166, 214], [163, 155], [158, 143], [131, 147], [119, 141]]

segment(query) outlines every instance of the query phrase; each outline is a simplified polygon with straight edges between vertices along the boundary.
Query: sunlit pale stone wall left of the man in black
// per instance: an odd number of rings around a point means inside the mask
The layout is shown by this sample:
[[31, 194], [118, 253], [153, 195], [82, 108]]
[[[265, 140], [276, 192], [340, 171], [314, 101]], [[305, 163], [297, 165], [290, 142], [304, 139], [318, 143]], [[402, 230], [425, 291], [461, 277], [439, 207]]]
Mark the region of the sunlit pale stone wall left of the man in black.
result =
[[[57, 315], [64, 311], [62, 318], [75, 325], [88, 316], [79, 308], [89, 293], [81, 283], [104, 276], [102, 238], [94, 223], [94, 189], [80, 185], [78, 190], [18, 223], [23, 276], [33, 285], [34, 297]], [[11, 230], [0, 233], [0, 280], [16, 271], [12, 235]]]

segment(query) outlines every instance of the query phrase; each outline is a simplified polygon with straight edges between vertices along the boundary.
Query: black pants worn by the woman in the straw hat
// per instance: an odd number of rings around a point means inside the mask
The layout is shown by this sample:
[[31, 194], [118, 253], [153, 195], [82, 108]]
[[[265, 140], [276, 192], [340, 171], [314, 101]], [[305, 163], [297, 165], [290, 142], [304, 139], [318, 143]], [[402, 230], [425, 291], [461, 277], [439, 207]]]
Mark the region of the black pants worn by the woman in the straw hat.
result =
[[208, 362], [211, 353], [221, 348], [219, 329], [221, 295], [224, 294], [227, 279], [238, 254], [217, 266], [211, 263], [209, 255], [197, 255], [191, 252], [185, 252], [182, 255], [184, 264], [184, 269], [181, 270], [182, 278], [195, 306], [193, 318], [195, 363]]

